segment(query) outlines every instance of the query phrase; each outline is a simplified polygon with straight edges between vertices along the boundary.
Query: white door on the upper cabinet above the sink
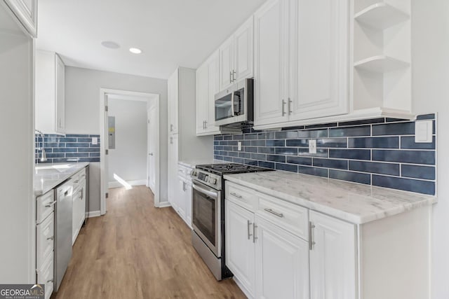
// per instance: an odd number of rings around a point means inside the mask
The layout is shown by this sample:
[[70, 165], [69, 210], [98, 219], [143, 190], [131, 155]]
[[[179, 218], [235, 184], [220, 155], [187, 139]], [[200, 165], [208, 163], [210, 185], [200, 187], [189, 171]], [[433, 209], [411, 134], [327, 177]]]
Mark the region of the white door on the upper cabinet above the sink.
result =
[[65, 66], [58, 54], [56, 65], [56, 132], [65, 133]]

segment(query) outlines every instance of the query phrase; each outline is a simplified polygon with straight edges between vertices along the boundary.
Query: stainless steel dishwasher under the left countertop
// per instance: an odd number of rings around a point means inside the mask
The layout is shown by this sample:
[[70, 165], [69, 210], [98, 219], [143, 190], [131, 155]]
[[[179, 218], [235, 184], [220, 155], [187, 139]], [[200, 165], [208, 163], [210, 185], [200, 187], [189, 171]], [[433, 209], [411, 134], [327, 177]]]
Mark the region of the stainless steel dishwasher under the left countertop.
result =
[[55, 189], [55, 291], [72, 258], [72, 184], [69, 180]]

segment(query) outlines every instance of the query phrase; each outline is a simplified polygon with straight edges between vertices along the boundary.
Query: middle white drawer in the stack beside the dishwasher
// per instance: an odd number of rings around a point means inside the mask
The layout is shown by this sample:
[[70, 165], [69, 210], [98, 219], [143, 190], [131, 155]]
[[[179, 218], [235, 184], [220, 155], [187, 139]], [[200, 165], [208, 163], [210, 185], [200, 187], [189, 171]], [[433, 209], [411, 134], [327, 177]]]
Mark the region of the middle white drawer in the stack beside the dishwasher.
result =
[[54, 214], [51, 213], [42, 223], [36, 225], [36, 267], [41, 269], [48, 254], [53, 252]]

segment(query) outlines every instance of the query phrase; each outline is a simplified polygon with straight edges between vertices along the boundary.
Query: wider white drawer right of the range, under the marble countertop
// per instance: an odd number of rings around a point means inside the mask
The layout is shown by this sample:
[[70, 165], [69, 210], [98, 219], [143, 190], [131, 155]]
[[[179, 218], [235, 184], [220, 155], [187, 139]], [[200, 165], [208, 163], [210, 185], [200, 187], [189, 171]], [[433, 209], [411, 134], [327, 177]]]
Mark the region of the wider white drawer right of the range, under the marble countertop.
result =
[[258, 194], [258, 201], [257, 215], [298, 237], [309, 239], [309, 216], [306, 208], [263, 194]]

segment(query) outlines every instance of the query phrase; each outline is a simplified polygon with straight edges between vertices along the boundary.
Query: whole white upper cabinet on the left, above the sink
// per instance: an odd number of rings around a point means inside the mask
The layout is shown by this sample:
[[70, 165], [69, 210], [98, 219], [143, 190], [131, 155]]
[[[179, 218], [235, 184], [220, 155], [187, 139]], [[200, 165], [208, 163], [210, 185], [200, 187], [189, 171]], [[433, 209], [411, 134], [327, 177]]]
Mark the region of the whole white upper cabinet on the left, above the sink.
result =
[[65, 66], [58, 54], [36, 51], [36, 130], [65, 133]]

